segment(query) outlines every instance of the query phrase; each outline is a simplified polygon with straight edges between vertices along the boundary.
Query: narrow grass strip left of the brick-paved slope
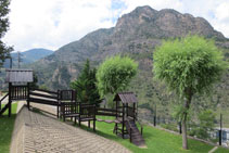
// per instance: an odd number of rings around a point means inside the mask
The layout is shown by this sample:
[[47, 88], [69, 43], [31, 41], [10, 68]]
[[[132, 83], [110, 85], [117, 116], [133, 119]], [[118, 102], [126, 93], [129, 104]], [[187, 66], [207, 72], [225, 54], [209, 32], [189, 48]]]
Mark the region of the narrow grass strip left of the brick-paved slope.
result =
[[[3, 107], [3, 105], [2, 105]], [[13, 132], [14, 120], [16, 117], [17, 104], [12, 104], [12, 116], [8, 117], [8, 111], [0, 117], [0, 153], [9, 153], [11, 136]]]

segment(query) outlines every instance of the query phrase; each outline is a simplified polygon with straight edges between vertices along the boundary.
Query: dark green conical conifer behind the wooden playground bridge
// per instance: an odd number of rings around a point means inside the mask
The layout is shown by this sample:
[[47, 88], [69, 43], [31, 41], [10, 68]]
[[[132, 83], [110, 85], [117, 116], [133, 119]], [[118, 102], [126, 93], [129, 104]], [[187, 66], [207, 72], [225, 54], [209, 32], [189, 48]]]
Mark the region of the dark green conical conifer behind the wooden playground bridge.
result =
[[90, 61], [87, 60], [85, 67], [78, 79], [71, 82], [71, 87], [77, 91], [77, 98], [81, 102], [96, 103], [101, 102], [99, 91], [97, 89], [97, 69], [90, 68]]

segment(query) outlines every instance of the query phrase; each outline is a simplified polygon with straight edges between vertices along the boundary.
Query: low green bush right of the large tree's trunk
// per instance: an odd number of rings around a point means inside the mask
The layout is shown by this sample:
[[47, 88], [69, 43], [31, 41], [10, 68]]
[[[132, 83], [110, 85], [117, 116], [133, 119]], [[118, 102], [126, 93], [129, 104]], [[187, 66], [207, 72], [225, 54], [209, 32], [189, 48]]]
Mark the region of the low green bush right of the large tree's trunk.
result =
[[206, 110], [200, 113], [198, 118], [200, 124], [192, 126], [191, 135], [202, 139], [209, 139], [209, 133], [214, 130], [215, 113], [211, 110]]

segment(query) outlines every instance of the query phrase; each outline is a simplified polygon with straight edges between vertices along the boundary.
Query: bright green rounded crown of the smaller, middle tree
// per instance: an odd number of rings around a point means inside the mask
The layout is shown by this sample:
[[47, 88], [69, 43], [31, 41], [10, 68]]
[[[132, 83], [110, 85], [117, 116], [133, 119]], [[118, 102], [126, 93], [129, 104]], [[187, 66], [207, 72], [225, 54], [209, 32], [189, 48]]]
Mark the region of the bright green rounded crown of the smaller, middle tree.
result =
[[127, 88], [137, 74], [138, 64], [128, 56], [120, 55], [106, 59], [97, 72], [100, 95], [116, 93]]

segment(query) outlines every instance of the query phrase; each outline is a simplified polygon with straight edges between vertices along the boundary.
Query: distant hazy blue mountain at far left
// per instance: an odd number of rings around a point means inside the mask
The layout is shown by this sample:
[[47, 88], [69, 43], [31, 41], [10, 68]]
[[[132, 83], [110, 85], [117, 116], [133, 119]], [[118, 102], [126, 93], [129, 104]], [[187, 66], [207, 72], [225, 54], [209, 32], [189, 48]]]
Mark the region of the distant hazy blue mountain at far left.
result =
[[[44, 56], [48, 56], [52, 54], [53, 51], [48, 50], [48, 49], [30, 49], [24, 52], [21, 52], [21, 58], [22, 58], [22, 64], [30, 64], [34, 63]], [[11, 56], [13, 59], [13, 66], [17, 66], [17, 59], [18, 59], [18, 53], [14, 52], [11, 53]], [[7, 60], [4, 63], [4, 67], [10, 66], [10, 61]]]

